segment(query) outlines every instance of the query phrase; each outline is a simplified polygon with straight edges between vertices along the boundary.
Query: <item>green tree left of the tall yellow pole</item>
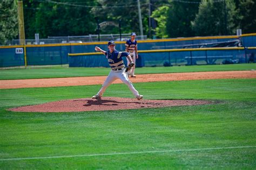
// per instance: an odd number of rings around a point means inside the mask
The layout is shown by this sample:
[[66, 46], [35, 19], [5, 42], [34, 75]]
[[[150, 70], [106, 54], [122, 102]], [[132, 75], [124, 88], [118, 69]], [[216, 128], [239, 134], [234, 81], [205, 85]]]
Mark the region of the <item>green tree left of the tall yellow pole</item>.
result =
[[0, 44], [6, 44], [18, 35], [17, 2], [2, 0], [0, 18]]

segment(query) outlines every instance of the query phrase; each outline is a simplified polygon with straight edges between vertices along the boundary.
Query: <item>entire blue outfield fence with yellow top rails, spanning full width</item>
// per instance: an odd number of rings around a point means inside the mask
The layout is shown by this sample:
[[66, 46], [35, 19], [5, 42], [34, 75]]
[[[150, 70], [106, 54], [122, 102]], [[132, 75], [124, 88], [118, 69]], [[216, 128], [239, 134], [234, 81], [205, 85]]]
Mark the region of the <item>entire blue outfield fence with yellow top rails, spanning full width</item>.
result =
[[[186, 45], [221, 42], [238, 38], [241, 39], [241, 42], [246, 47], [235, 47], [235, 49], [183, 49]], [[69, 64], [70, 66], [107, 67], [108, 64], [104, 60], [104, 57], [95, 53], [95, 46], [106, 49], [106, 44], [107, 42], [91, 42], [0, 46], [0, 67], [62, 64]], [[124, 44], [124, 41], [117, 41], [116, 49], [124, 51]], [[137, 66], [220, 64], [224, 60], [236, 60], [235, 62], [237, 63], [248, 63], [254, 58], [254, 46], [256, 46], [256, 33], [242, 35], [241, 37], [216, 36], [138, 40], [140, 57], [137, 60]], [[78, 55], [75, 57], [72, 54]]]

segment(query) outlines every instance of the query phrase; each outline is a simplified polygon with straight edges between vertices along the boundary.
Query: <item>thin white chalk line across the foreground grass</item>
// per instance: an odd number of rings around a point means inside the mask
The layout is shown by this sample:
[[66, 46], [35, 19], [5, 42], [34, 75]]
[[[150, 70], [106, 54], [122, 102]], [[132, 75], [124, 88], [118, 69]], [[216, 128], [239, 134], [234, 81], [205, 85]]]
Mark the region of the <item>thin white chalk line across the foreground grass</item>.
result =
[[131, 155], [131, 154], [143, 154], [143, 153], [165, 153], [165, 152], [193, 152], [193, 151], [213, 151], [220, 149], [237, 149], [237, 148], [253, 148], [256, 146], [233, 146], [233, 147], [210, 147], [210, 148], [194, 148], [194, 149], [172, 149], [163, 151], [141, 151], [141, 152], [119, 152], [119, 153], [101, 153], [101, 154], [83, 154], [83, 155], [63, 155], [63, 156], [52, 156], [52, 157], [27, 157], [27, 158], [5, 158], [0, 161], [10, 160], [35, 160], [35, 159], [54, 159], [54, 158], [76, 158], [76, 157], [102, 157], [112, 155]]

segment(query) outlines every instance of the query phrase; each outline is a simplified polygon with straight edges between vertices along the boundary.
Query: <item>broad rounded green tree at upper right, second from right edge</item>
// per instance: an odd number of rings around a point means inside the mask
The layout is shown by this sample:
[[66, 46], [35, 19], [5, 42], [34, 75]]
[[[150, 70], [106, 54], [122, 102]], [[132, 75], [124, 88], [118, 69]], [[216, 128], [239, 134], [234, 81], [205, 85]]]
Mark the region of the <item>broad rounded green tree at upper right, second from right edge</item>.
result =
[[237, 10], [233, 0], [226, 2], [203, 0], [196, 18], [191, 22], [192, 28], [197, 36], [231, 35], [235, 33], [236, 15]]

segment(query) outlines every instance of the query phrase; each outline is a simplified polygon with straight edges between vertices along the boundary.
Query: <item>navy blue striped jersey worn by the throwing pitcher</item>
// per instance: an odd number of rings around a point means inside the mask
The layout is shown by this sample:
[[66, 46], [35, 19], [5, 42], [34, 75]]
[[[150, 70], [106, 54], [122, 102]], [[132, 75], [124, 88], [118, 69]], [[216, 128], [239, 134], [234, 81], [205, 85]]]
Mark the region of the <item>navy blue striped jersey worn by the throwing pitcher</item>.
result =
[[122, 57], [128, 56], [127, 52], [119, 52], [114, 50], [112, 53], [110, 51], [105, 52], [105, 56], [112, 70], [122, 69], [124, 66], [124, 62]]

